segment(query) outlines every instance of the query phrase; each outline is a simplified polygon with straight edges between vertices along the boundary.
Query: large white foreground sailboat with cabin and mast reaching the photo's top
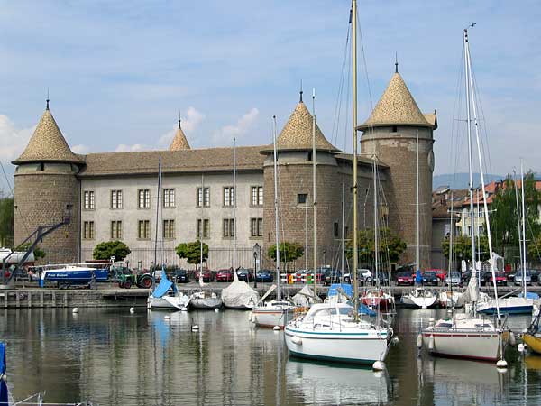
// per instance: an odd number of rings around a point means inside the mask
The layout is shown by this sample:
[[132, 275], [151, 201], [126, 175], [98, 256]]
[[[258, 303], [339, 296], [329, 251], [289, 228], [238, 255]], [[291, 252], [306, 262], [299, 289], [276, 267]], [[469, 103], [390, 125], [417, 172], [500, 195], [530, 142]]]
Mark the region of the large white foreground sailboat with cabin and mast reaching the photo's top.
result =
[[[305, 316], [285, 328], [289, 354], [318, 360], [372, 364], [383, 368], [392, 331], [359, 315], [357, 281], [357, 2], [352, 0], [353, 62], [353, 305], [342, 302], [316, 303]], [[316, 263], [314, 264], [316, 265]]]

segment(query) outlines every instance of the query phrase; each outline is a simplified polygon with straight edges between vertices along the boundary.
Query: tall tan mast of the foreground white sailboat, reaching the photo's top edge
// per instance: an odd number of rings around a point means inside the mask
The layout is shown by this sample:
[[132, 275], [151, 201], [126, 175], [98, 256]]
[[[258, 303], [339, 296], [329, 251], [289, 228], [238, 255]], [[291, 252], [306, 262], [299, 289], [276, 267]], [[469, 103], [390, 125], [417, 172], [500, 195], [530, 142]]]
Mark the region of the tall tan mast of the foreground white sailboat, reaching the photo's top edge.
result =
[[[352, 0], [352, 131], [353, 131], [353, 306], [355, 313], [359, 307], [359, 281], [357, 281], [358, 241], [357, 241], [357, 1]], [[374, 189], [374, 194], [376, 190]]]

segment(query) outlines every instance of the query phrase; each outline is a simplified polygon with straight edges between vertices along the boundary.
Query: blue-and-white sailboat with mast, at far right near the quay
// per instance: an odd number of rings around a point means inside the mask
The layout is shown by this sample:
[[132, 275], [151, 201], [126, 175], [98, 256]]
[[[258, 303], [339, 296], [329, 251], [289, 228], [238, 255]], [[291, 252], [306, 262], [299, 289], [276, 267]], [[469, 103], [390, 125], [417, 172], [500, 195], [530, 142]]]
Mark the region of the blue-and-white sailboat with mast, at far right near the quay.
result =
[[[525, 226], [525, 200], [524, 200], [524, 171], [522, 169], [522, 162], [520, 163], [520, 181], [521, 181], [521, 194], [522, 194], [522, 216], [518, 221], [522, 223], [522, 230], [520, 225], [518, 225], [518, 243], [520, 249], [520, 268], [522, 272], [522, 293], [520, 296], [508, 296], [503, 297], [498, 300], [498, 305], [500, 307], [500, 313], [509, 313], [509, 314], [531, 314], [534, 309], [534, 304], [536, 300], [539, 299], [539, 296], [536, 293], [528, 293], [526, 287], [526, 226]], [[517, 198], [517, 208], [518, 208], [518, 190], [517, 182], [515, 181], [515, 195]], [[518, 215], [518, 210], [517, 210]], [[494, 314], [496, 312], [496, 300], [491, 299], [490, 297], [485, 297], [485, 300], [482, 300], [477, 303], [477, 311], [484, 314]]]

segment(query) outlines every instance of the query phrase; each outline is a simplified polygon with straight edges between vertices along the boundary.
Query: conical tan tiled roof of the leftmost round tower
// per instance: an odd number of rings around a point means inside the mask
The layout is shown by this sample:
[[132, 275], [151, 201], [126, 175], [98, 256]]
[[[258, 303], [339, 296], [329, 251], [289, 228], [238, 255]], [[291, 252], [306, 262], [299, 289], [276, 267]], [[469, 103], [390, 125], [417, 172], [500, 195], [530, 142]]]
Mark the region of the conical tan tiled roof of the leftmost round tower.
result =
[[17, 165], [32, 161], [84, 163], [78, 155], [69, 149], [68, 143], [50, 113], [49, 101], [34, 134], [26, 145], [26, 149], [13, 163]]

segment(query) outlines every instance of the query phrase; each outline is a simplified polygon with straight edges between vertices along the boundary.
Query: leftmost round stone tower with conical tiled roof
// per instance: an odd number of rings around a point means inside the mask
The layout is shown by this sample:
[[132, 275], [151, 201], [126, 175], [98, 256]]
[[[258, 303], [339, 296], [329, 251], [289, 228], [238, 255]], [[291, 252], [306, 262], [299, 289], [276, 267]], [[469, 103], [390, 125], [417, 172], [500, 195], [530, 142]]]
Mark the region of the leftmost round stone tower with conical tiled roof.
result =
[[71, 211], [71, 222], [40, 243], [46, 263], [76, 263], [79, 252], [80, 187], [77, 173], [84, 161], [71, 152], [50, 113], [49, 100], [14, 174], [15, 245], [38, 226], [60, 223]]

